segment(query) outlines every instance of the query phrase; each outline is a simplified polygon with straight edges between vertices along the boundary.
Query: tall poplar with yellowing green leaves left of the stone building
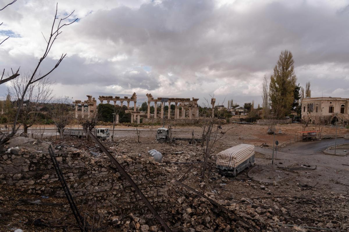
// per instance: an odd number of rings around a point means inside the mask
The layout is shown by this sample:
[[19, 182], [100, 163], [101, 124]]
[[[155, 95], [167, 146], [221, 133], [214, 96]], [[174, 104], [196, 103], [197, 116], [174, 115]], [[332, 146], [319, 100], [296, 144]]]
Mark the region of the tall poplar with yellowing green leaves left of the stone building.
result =
[[270, 77], [269, 97], [272, 109], [277, 117], [286, 116], [294, 101], [294, 90], [297, 77], [294, 71], [294, 60], [289, 50], [281, 51], [279, 61]]

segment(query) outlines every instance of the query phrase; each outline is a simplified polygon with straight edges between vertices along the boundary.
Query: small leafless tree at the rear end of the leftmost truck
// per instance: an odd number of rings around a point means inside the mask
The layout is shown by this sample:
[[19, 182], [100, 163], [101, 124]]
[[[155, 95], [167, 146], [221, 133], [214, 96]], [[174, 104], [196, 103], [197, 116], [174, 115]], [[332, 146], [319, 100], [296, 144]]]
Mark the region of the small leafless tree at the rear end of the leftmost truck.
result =
[[61, 97], [55, 100], [53, 109], [50, 112], [60, 138], [63, 138], [64, 128], [73, 120], [73, 114], [70, 110], [71, 107], [68, 102], [68, 97]]

